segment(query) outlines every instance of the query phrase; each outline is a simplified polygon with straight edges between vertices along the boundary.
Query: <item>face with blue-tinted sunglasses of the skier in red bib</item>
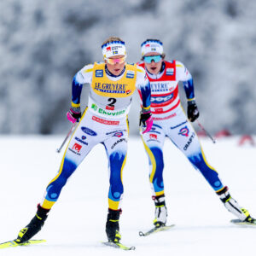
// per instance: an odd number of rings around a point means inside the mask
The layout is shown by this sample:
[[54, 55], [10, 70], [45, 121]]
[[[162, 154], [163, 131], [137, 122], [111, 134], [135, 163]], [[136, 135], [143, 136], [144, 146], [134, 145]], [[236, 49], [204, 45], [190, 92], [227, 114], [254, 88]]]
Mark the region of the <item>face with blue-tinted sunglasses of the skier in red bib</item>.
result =
[[162, 67], [163, 58], [157, 52], [148, 52], [143, 56], [145, 67], [148, 72], [158, 74]]

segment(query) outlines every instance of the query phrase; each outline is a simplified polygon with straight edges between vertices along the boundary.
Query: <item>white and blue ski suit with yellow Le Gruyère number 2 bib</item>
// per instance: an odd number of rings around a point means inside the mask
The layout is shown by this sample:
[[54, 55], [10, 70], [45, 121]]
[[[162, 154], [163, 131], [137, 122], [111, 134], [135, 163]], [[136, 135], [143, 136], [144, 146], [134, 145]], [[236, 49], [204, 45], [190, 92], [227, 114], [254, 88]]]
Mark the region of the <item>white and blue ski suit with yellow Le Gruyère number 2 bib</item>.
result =
[[108, 207], [120, 208], [123, 195], [122, 172], [127, 152], [127, 114], [131, 98], [137, 89], [143, 98], [143, 108], [150, 108], [150, 86], [145, 70], [137, 65], [125, 64], [125, 69], [114, 77], [105, 63], [83, 67], [73, 79], [72, 107], [80, 107], [82, 86], [90, 84], [88, 107], [70, 139], [58, 174], [46, 188], [41, 206], [51, 208], [61, 189], [85, 156], [96, 144], [106, 149], [109, 167]]

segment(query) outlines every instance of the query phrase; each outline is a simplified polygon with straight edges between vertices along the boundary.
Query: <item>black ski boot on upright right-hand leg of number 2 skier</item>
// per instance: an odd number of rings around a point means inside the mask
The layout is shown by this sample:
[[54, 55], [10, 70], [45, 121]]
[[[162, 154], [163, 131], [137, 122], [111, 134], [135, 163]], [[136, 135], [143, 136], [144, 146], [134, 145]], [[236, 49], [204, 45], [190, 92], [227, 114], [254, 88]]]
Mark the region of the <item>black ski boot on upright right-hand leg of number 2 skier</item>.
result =
[[121, 209], [116, 211], [108, 209], [108, 218], [106, 224], [108, 241], [119, 242], [121, 239], [121, 235], [119, 234], [119, 216], [121, 212]]

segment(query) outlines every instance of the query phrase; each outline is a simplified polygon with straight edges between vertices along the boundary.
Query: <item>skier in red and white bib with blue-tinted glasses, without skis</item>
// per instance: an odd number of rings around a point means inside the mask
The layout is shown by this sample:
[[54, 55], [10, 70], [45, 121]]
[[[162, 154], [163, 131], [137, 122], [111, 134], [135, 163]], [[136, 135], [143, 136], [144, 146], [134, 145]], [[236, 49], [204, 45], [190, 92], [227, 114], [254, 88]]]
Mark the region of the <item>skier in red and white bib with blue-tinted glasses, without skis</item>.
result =
[[[155, 227], [166, 225], [167, 210], [163, 181], [163, 146], [169, 137], [191, 164], [207, 179], [215, 193], [230, 212], [242, 224], [256, 224], [249, 212], [240, 207], [230, 196], [228, 187], [218, 177], [218, 172], [210, 166], [202, 151], [201, 144], [190, 122], [199, 117], [195, 102], [194, 84], [189, 70], [180, 61], [166, 61], [163, 44], [157, 39], [147, 39], [141, 44], [141, 67], [146, 69], [151, 87], [151, 111], [154, 124], [142, 135], [149, 160], [149, 181], [155, 204]], [[178, 82], [188, 101], [187, 115], [183, 112], [178, 95]], [[142, 96], [142, 95], [141, 95]]]

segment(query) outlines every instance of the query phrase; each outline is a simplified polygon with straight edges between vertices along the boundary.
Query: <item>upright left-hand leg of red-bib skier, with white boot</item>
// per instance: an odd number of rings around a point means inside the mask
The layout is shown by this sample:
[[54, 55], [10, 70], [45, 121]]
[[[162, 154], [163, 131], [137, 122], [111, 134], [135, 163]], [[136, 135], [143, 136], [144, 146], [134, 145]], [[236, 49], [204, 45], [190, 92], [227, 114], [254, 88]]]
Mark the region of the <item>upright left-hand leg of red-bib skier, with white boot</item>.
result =
[[151, 131], [143, 134], [143, 144], [148, 154], [149, 182], [154, 200], [154, 225], [166, 224], [167, 209], [164, 191], [164, 159], [162, 148], [164, 146], [165, 133], [160, 125], [154, 124]]

